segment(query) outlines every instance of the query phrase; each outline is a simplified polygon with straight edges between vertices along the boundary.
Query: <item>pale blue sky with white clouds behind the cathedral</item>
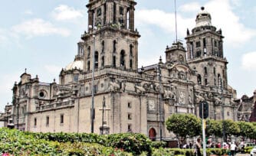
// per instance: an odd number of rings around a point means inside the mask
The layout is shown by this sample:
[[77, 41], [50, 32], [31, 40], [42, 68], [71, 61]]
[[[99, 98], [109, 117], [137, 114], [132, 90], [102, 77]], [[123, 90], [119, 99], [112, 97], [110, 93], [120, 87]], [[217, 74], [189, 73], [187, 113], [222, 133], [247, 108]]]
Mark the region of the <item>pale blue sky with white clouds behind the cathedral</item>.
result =
[[[165, 59], [176, 40], [174, 0], [136, 0], [139, 67]], [[0, 5], [0, 112], [12, 99], [12, 87], [27, 69], [41, 82], [58, 82], [61, 69], [74, 60], [80, 35], [87, 31], [88, 0], [9, 0]], [[228, 84], [238, 98], [256, 89], [256, 1], [177, 0], [177, 36], [185, 46], [186, 30], [204, 6], [212, 25], [222, 29]]]

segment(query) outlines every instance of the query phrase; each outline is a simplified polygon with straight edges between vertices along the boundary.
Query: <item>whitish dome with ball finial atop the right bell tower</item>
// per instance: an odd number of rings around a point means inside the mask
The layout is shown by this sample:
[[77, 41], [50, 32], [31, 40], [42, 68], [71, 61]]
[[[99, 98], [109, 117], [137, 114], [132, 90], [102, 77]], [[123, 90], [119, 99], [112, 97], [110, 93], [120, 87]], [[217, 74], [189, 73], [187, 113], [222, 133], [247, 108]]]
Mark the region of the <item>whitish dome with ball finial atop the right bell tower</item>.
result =
[[205, 7], [202, 7], [199, 14], [196, 15], [195, 22], [196, 22], [195, 27], [212, 25], [211, 15], [207, 11], [205, 11]]

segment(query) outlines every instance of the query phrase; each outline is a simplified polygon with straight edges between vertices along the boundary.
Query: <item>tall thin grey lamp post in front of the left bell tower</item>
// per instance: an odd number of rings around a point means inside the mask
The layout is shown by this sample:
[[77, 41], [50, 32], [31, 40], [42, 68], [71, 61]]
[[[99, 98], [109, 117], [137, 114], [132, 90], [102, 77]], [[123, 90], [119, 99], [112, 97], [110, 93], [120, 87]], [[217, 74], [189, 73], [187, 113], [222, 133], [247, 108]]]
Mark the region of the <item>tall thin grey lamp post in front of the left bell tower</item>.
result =
[[[93, 28], [92, 25], [89, 25], [89, 28]], [[91, 122], [91, 127], [90, 127], [90, 132], [94, 133], [94, 68], [95, 68], [95, 29], [96, 27], [93, 28], [93, 69], [92, 69], [92, 83], [91, 83], [91, 110], [90, 110], [90, 122]]]

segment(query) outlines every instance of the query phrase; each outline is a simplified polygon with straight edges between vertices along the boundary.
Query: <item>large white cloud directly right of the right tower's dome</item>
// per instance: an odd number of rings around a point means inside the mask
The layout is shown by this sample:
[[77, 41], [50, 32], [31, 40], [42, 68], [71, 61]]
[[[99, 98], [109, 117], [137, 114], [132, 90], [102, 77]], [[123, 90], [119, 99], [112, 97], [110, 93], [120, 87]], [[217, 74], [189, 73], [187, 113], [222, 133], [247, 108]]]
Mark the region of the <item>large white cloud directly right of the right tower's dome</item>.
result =
[[205, 10], [212, 15], [212, 24], [222, 28], [225, 41], [232, 46], [243, 44], [256, 35], [256, 31], [246, 28], [239, 21], [233, 6], [228, 0], [212, 0], [205, 4]]

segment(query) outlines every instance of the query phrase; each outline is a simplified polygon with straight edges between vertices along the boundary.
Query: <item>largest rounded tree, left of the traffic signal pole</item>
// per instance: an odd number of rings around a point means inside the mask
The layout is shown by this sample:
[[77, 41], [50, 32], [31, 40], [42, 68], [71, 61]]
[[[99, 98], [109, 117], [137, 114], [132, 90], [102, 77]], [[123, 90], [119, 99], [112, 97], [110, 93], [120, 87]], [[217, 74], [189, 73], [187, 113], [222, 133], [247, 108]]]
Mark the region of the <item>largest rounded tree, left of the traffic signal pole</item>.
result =
[[186, 137], [194, 137], [202, 132], [201, 120], [192, 114], [172, 114], [166, 120], [166, 128], [173, 132], [178, 140]]

